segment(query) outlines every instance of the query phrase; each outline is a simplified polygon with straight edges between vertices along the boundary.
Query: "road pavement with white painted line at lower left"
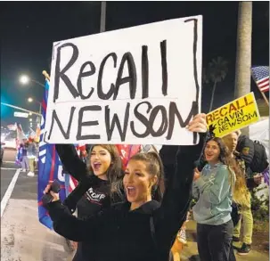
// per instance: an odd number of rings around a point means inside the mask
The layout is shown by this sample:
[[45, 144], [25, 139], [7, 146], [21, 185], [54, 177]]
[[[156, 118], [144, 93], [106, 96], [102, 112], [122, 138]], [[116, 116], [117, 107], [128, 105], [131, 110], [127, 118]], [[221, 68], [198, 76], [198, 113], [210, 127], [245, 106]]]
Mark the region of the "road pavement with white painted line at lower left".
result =
[[4, 151], [1, 167], [1, 261], [70, 261], [66, 241], [40, 224], [37, 175], [14, 164], [16, 151]]

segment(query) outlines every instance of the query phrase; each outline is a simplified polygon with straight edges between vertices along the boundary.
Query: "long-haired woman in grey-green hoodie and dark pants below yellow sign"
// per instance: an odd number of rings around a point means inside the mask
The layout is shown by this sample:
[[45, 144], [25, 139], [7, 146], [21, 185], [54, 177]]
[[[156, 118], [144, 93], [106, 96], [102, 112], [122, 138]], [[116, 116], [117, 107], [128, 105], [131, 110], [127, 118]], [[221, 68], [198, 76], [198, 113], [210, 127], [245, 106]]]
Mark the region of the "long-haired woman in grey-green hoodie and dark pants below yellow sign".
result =
[[220, 138], [210, 139], [204, 158], [208, 164], [201, 175], [194, 176], [193, 207], [197, 222], [197, 242], [201, 261], [228, 261], [233, 240], [231, 217], [235, 174], [225, 144]]

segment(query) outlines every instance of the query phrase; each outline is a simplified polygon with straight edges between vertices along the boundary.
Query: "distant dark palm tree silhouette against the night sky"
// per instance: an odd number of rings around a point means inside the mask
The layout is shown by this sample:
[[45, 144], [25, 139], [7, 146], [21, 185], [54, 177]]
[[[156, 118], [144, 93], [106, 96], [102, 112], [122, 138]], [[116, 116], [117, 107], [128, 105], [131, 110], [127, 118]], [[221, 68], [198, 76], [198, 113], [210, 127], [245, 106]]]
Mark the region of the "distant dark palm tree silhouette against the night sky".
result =
[[225, 79], [227, 72], [228, 62], [220, 56], [218, 56], [217, 59], [213, 59], [212, 61], [210, 61], [207, 69], [205, 69], [203, 72], [204, 83], [209, 84], [211, 82], [213, 84], [209, 111], [211, 111], [213, 108], [217, 83], [220, 83]]

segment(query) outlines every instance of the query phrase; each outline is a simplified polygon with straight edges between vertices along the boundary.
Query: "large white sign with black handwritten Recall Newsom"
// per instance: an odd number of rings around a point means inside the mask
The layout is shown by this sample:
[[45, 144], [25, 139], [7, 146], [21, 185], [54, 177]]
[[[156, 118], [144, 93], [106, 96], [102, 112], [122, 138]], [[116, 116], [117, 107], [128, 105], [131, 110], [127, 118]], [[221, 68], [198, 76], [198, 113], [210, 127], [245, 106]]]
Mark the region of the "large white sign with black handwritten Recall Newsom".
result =
[[202, 17], [53, 44], [47, 143], [193, 144]]

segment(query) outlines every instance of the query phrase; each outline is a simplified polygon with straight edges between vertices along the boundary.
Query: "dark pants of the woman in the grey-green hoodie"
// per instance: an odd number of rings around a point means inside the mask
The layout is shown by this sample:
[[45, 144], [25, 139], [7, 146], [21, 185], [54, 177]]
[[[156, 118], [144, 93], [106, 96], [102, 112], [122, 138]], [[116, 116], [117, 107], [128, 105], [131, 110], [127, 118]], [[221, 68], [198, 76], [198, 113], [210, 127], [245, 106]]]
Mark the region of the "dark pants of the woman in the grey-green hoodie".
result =
[[197, 224], [200, 261], [229, 261], [233, 221], [225, 224]]

